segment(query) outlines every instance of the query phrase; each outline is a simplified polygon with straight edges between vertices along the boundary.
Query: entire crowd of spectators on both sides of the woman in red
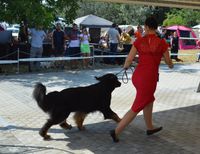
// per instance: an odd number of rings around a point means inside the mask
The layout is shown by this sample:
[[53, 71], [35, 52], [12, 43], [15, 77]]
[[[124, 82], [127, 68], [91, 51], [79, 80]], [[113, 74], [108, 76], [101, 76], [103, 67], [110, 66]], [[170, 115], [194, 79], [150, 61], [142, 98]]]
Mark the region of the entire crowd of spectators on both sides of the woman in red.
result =
[[[156, 30], [156, 33], [161, 38], [166, 39], [171, 47], [171, 58], [178, 62], [182, 62], [178, 58], [179, 38], [176, 32], [171, 35], [166, 35], [166, 29]], [[98, 48], [106, 55], [115, 54], [128, 54], [135, 40], [145, 35], [144, 27], [137, 26], [135, 30], [132, 26], [121, 29], [115, 23], [109, 28], [106, 35], [100, 37]], [[30, 37], [29, 37], [30, 36]], [[45, 33], [41, 25], [36, 25], [34, 28], [29, 29], [25, 24], [21, 24], [19, 40], [21, 42], [28, 42], [30, 39], [30, 58], [41, 58], [43, 55], [43, 42], [45, 39], [51, 40], [51, 53], [50, 56], [62, 57], [80, 57], [83, 56], [82, 66], [84, 68], [90, 67], [90, 33], [86, 27], [79, 30], [78, 25], [73, 24], [72, 29], [65, 31], [61, 23], [56, 23], [55, 28], [50, 33]], [[66, 43], [67, 42], [67, 43]], [[106, 49], [106, 50], [105, 50]], [[88, 58], [87, 58], [88, 57]], [[122, 64], [124, 58], [104, 58], [104, 63], [109, 64]], [[78, 67], [78, 61], [70, 61], [71, 68]], [[62, 63], [60, 63], [62, 65]], [[40, 62], [30, 62], [29, 70], [39, 69]]]

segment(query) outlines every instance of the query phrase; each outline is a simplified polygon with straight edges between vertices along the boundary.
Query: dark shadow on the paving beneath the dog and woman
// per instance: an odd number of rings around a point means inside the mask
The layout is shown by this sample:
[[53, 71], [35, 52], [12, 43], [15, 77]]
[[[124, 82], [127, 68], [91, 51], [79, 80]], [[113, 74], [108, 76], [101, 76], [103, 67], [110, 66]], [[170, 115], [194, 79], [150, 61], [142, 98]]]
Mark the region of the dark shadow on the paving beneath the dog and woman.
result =
[[[52, 133], [52, 137], [54, 137], [54, 133], [64, 133], [66, 138], [53, 138], [52, 140], [66, 142], [66, 146], [71, 150], [87, 149], [90, 152], [99, 154], [197, 154], [200, 153], [199, 111], [200, 105], [194, 105], [154, 113], [155, 124], [158, 126], [162, 125], [164, 129], [160, 133], [152, 136], [146, 136], [143, 117], [139, 115], [120, 135], [119, 143], [113, 143], [109, 136], [109, 130], [116, 127], [116, 123], [110, 120], [87, 124], [85, 125], [85, 131], [78, 131], [77, 128], [67, 131], [52, 128], [49, 130], [49, 133]], [[195, 118], [192, 119], [191, 117]], [[40, 128], [20, 126], [0, 127], [1, 131], [12, 131], [12, 129], [39, 131]], [[45, 151], [47, 149], [56, 150], [54, 145], [40, 147], [0, 144], [0, 147], [1, 149], [19, 148], [23, 153]], [[63, 149], [57, 150], [60, 150], [60, 152], [68, 152]]]

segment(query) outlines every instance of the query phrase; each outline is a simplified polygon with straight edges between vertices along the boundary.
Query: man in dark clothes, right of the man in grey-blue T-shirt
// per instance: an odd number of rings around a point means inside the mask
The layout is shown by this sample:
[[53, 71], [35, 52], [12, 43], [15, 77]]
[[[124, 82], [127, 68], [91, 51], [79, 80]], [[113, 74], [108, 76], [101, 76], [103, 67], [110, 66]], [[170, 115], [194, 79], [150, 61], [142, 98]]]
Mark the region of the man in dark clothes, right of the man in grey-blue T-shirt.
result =
[[65, 48], [65, 32], [61, 29], [61, 23], [56, 24], [56, 30], [53, 31], [52, 49], [54, 56], [63, 56]]

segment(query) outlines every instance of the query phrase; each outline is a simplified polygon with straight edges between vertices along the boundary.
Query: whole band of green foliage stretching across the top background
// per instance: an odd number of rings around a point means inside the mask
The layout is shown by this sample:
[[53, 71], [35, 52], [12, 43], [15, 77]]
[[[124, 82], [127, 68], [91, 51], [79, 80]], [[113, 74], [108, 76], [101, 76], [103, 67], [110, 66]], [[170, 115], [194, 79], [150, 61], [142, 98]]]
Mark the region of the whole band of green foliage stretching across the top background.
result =
[[67, 23], [72, 23], [75, 18], [88, 14], [100, 16], [117, 24], [143, 24], [149, 15], [154, 15], [158, 23], [165, 26], [194, 26], [200, 23], [200, 11], [192, 9], [147, 7], [92, 0], [0, 0], [0, 21], [26, 21], [30, 27], [38, 24], [47, 27], [55, 17], [63, 17]]

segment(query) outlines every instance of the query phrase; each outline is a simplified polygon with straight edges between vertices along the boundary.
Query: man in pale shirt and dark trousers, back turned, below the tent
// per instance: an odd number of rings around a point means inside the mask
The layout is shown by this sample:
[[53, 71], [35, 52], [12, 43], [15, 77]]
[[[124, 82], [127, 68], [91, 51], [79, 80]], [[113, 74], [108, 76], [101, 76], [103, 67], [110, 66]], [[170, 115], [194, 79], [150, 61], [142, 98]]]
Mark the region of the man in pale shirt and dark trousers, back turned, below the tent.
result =
[[[120, 42], [120, 34], [116, 29], [116, 24], [112, 24], [112, 28], [108, 30], [107, 36], [110, 43], [110, 54], [114, 55], [117, 53], [118, 44]], [[110, 59], [110, 63], [115, 64], [115, 58]]]

